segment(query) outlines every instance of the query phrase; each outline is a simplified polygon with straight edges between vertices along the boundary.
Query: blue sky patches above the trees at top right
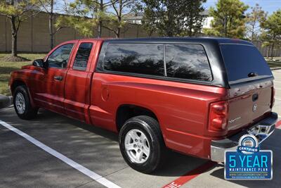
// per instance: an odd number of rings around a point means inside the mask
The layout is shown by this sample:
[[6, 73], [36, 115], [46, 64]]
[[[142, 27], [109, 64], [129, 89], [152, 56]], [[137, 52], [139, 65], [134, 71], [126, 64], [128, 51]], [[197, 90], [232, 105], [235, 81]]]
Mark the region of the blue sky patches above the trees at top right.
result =
[[[277, 11], [278, 8], [281, 8], [281, 0], [240, 0], [247, 4], [248, 6], [255, 6], [255, 4], [259, 4], [263, 8], [263, 11], [268, 12], [268, 14], [272, 14], [274, 11]], [[217, 0], [207, 0], [207, 2], [203, 5], [204, 8], [209, 8], [210, 6], [216, 6]], [[251, 9], [249, 8], [248, 11]]]

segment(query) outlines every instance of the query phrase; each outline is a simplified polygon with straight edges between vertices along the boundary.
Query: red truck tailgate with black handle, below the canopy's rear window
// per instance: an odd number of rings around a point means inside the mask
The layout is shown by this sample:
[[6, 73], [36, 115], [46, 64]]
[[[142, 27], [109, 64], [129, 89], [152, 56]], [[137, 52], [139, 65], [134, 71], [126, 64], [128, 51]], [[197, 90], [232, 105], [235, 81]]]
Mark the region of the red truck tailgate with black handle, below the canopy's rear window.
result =
[[254, 123], [271, 111], [271, 80], [255, 84], [240, 84], [230, 89], [228, 130], [237, 130]]

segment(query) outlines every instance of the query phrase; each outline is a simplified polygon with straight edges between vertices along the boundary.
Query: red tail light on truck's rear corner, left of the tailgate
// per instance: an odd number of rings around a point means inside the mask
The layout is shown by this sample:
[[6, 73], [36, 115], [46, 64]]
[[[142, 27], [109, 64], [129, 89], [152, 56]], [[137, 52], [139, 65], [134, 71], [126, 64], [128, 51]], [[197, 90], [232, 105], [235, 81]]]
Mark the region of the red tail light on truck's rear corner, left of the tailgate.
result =
[[209, 112], [209, 130], [225, 130], [228, 125], [228, 101], [213, 103]]

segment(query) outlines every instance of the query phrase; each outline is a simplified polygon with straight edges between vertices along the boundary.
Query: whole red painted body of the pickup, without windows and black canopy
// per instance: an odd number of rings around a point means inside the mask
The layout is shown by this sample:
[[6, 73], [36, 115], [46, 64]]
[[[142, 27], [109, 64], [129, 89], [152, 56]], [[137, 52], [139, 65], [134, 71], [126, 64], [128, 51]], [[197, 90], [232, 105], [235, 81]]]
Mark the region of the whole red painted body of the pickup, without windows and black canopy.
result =
[[[73, 70], [74, 57], [81, 42], [93, 42], [93, 49], [86, 71]], [[135, 105], [155, 113], [167, 147], [181, 153], [201, 158], [210, 157], [212, 139], [223, 139], [248, 126], [252, 120], [263, 118], [271, 109], [271, 82], [264, 82], [228, 89], [204, 84], [191, 84], [144, 77], [96, 73], [96, 65], [103, 39], [81, 39], [74, 48], [66, 69], [24, 66], [14, 71], [11, 85], [24, 82], [30, 89], [34, 106], [47, 108], [57, 113], [117, 132], [117, 110], [122, 105]], [[55, 47], [57, 49], [60, 44]], [[44, 59], [55, 50], [53, 49]], [[60, 82], [55, 75], [63, 77]], [[262, 89], [261, 89], [262, 87]], [[237, 92], [239, 91], [239, 92]], [[258, 106], [252, 111], [251, 94], [259, 92]], [[209, 113], [211, 104], [223, 101], [228, 109], [225, 115], [216, 115], [222, 121], [243, 116], [227, 127], [211, 129]], [[228, 104], [229, 103], [229, 104]], [[219, 107], [219, 106], [217, 106]], [[265, 109], [267, 108], [268, 109]], [[221, 107], [220, 107], [221, 108]], [[219, 116], [219, 117], [218, 117]], [[218, 121], [216, 121], [217, 124]], [[214, 123], [214, 121], [212, 121]]]

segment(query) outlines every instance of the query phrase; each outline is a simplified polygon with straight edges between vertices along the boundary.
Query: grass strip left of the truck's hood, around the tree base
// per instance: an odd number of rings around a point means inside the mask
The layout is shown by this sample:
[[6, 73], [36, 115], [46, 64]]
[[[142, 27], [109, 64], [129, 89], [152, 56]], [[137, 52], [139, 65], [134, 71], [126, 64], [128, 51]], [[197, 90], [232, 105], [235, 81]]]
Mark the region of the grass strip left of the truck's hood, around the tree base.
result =
[[19, 70], [23, 65], [30, 65], [34, 59], [44, 58], [45, 54], [18, 54], [23, 58], [27, 58], [30, 61], [22, 62], [6, 62], [1, 60], [8, 54], [0, 54], [0, 94], [11, 95], [8, 89], [8, 80], [10, 80], [10, 73], [13, 70]]

